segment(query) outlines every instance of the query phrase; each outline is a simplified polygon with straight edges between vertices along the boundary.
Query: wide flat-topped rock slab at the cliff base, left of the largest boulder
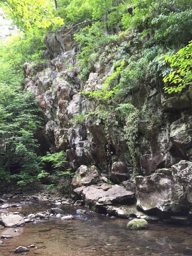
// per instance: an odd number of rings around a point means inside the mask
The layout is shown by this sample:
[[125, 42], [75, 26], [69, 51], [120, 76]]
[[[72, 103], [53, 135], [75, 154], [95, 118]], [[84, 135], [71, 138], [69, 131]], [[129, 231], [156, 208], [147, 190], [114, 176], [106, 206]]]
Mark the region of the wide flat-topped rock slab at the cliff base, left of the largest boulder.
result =
[[[108, 188], [107, 188], [108, 186]], [[83, 189], [82, 198], [94, 205], [130, 204], [134, 202], [134, 192], [118, 185], [91, 185]]]

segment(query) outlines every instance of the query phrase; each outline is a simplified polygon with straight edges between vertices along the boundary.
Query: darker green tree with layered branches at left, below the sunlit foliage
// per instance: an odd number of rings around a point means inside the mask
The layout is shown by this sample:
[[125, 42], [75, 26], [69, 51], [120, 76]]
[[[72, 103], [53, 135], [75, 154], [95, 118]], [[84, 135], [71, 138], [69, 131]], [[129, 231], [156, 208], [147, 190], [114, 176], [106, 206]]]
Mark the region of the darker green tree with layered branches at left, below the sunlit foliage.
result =
[[36, 154], [38, 141], [34, 138], [41, 127], [37, 103], [32, 94], [20, 91], [17, 86], [0, 84], [0, 112], [3, 172], [8, 179], [14, 178], [19, 185], [25, 185], [36, 180], [41, 171], [41, 160]]

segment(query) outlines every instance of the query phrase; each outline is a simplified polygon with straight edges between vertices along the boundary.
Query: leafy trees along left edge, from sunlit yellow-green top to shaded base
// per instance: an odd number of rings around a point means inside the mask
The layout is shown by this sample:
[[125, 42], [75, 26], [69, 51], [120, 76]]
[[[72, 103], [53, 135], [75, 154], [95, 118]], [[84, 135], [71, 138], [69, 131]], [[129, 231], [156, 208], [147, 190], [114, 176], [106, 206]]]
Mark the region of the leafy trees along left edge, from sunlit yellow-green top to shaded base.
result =
[[22, 87], [21, 64], [30, 47], [27, 43], [22, 45], [16, 36], [3, 43], [0, 44], [0, 179], [14, 178], [25, 185], [36, 180], [41, 171], [36, 134], [42, 120], [34, 96]]

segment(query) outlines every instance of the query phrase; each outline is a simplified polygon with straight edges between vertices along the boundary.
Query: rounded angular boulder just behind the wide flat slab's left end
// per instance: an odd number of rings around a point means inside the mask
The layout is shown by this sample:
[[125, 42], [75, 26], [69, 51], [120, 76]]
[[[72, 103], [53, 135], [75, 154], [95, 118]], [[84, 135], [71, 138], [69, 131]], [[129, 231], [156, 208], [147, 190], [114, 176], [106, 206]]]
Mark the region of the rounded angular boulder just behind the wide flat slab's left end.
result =
[[89, 186], [95, 184], [99, 180], [99, 173], [96, 166], [88, 168], [85, 165], [81, 165], [73, 177], [72, 185], [77, 188], [80, 186]]

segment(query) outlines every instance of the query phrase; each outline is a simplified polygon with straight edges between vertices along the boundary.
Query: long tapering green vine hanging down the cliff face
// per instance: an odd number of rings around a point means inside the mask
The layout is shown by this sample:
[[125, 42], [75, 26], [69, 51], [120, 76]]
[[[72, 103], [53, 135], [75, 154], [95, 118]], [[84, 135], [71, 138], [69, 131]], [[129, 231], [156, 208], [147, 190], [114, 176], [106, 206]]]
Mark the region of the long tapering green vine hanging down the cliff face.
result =
[[134, 167], [134, 178], [138, 175], [137, 160], [136, 160], [136, 140], [139, 126], [139, 110], [132, 104], [124, 103], [120, 104], [116, 108], [116, 112], [119, 114], [119, 118], [124, 121], [125, 140], [127, 140], [128, 149], [131, 154], [133, 167]]

